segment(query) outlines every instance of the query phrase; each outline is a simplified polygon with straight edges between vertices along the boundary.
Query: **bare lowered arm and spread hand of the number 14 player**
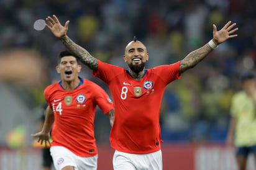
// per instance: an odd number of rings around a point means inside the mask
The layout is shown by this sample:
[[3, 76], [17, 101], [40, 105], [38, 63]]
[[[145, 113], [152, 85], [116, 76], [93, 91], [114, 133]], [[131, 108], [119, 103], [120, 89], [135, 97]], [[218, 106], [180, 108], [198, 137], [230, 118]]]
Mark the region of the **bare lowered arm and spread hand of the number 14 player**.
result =
[[34, 138], [39, 138], [39, 142], [45, 143], [45, 146], [47, 146], [47, 142], [50, 144], [50, 130], [52, 128], [54, 122], [54, 114], [52, 108], [49, 106], [46, 109], [46, 114], [45, 114], [45, 122], [43, 123], [43, 128], [40, 132], [31, 134]]

